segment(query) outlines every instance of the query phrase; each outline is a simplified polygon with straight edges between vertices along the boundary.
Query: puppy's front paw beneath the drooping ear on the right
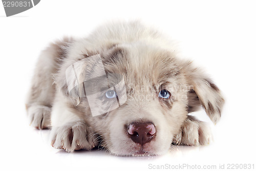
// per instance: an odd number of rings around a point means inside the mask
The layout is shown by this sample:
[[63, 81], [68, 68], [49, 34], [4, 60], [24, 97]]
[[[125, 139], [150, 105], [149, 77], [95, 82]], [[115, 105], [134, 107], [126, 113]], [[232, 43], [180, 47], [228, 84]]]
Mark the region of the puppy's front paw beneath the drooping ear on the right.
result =
[[188, 116], [173, 142], [178, 145], [207, 145], [212, 141], [211, 131], [207, 124]]

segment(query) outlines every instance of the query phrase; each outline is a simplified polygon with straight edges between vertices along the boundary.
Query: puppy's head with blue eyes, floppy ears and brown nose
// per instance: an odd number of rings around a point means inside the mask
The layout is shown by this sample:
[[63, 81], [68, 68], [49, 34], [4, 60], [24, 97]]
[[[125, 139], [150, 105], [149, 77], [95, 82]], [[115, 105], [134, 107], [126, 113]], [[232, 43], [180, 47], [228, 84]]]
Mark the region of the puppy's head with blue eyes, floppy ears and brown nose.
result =
[[56, 83], [111, 153], [166, 152], [187, 114], [200, 106], [214, 123], [220, 119], [220, 90], [173, 52], [141, 42], [88, 47], [69, 48]]

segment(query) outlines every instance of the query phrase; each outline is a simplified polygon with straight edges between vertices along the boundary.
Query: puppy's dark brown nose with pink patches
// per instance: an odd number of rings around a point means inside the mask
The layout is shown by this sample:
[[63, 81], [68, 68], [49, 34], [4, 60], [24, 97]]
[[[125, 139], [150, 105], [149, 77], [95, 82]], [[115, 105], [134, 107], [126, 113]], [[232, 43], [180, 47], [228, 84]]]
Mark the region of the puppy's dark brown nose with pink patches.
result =
[[150, 142], [156, 136], [156, 127], [151, 122], [131, 123], [127, 127], [127, 135], [141, 145]]

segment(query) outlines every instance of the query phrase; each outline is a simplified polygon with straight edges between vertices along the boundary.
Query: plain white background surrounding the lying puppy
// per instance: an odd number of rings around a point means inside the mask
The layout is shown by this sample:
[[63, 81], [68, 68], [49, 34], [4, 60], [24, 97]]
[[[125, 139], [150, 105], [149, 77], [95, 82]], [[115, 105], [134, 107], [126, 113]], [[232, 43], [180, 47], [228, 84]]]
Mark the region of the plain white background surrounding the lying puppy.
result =
[[[40, 51], [64, 35], [86, 36], [115, 19], [141, 19], [158, 27], [179, 42], [182, 57], [193, 59], [215, 80], [226, 103], [221, 121], [214, 126], [213, 144], [173, 147], [157, 157], [66, 153], [50, 146], [49, 131], [29, 126], [25, 97]], [[255, 168], [255, 23], [254, 1], [44, 0], [12, 17], [6, 17], [1, 6], [0, 169], [152, 170], [149, 164], [217, 168], [225, 164], [227, 168], [232, 163], [254, 163]], [[205, 115], [195, 115], [200, 114]]]

